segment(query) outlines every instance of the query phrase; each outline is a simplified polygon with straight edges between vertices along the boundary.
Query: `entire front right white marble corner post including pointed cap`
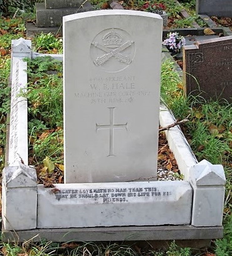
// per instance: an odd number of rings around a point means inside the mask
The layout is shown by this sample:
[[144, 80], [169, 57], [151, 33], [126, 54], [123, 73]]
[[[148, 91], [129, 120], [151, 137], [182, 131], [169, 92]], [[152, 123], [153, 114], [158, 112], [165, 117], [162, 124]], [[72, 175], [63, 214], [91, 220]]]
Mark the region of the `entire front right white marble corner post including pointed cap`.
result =
[[225, 182], [223, 166], [220, 164], [211, 164], [207, 160], [202, 160], [190, 168], [193, 226], [222, 225]]

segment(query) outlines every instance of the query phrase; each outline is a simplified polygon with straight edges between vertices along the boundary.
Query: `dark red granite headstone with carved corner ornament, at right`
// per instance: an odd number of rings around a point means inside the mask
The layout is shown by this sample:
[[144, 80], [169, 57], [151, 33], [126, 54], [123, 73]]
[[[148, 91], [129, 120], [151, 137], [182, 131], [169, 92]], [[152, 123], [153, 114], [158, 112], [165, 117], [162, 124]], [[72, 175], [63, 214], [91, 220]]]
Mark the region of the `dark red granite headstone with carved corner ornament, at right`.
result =
[[[232, 36], [183, 47], [184, 88], [187, 95], [232, 102]], [[197, 82], [196, 82], [197, 80]]]

